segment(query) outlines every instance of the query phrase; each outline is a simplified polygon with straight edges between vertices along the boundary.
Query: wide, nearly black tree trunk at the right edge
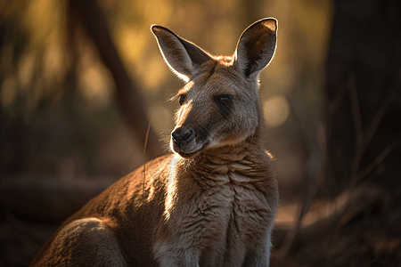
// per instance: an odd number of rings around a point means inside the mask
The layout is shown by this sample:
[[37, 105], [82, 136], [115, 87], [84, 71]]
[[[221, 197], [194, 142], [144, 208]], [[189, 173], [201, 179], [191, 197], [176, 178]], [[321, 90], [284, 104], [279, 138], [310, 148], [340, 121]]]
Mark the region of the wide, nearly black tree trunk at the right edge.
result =
[[401, 180], [401, 3], [338, 0], [327, 58], [327, 170], [331, 197], [367, 179]]

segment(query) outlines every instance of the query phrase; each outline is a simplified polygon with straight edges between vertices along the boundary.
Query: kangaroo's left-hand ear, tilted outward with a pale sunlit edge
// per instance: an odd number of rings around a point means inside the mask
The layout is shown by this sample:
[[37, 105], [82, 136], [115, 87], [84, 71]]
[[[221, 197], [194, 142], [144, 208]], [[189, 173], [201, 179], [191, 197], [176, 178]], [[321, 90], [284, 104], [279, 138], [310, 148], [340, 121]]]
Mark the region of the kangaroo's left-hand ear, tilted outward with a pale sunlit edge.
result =
[[158, 40], [160, 52], [168, 67], [185, 82], [189, 81], [204, 61], [211, 59], [200, 47], [176, 36], [168, 28], [152, 25], [151, 32]]

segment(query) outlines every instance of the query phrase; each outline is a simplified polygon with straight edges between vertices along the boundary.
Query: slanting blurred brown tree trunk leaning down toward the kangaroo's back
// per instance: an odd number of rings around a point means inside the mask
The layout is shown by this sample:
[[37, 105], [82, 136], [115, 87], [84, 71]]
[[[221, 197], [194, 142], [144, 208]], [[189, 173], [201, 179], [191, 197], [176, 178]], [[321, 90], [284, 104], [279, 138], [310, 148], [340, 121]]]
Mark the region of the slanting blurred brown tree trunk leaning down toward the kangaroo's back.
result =
[[145, 153], [148, 159], [160, 156], [163, 143], [159, 142], [152, 128], [147, 134], [150, 123], [143, 96], [119, 57], [101, 7], [94, 0], [70, 0], [68, 9], [71, 23], [78, 22], [84, 26], [87, 35], [92, 37], [102, 61], [110, 69], [116, 84], [116, 99], [119, 108], [135, 134], [136, 140], [140, 143], [147, 141]]

